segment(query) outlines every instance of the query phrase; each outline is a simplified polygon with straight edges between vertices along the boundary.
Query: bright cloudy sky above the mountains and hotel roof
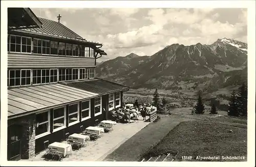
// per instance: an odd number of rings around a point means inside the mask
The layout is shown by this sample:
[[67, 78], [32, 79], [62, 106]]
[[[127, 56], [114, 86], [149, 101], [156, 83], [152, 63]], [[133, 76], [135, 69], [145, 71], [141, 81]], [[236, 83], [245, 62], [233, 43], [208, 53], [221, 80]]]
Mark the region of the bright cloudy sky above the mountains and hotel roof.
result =
[[165, 46], [210, 44], [218, 38], [247, 42], [247, 9], [31, 8], [89, 41], [103, 43], [100, 61], [135, 53], [151, 56]]

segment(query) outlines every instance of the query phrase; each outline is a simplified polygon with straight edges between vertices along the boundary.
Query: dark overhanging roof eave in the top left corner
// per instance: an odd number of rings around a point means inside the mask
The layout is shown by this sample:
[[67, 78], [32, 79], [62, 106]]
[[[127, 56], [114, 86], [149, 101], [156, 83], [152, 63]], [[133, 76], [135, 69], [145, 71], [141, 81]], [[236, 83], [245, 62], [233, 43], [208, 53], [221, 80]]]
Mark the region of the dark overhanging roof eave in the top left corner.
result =
[[8, 8], [8, 30], [40, 28], [41, 25], [30, 8]]

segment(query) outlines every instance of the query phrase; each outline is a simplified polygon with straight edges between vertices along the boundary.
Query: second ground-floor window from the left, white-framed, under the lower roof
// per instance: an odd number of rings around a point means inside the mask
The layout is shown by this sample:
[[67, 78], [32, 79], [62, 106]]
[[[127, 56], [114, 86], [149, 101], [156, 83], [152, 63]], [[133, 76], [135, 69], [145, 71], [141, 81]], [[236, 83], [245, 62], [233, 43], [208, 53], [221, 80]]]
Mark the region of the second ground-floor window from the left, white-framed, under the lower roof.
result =
[[53, 130], [60, 129], [66, 125], [66, 107], [53, 110]]

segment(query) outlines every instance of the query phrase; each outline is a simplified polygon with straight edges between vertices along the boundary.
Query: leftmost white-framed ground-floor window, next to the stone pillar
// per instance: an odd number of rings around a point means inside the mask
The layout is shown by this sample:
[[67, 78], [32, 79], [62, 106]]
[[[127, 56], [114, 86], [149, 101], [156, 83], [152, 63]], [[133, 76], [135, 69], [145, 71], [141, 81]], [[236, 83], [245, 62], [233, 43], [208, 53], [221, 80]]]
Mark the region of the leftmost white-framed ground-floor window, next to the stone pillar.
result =
[[50, 132], [50, 111], [36, 114], [35, 135], [46, 134]]

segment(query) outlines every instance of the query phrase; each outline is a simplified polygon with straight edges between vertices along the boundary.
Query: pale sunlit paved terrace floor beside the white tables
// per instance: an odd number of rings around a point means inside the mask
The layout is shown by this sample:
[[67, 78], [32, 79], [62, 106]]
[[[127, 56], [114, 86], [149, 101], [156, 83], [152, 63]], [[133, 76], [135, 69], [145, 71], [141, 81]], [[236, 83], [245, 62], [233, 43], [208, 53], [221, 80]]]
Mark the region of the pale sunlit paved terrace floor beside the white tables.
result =
[[[113, 127], [113, 131], [103, 133], [103, 136], [97, 140], [87, 141], [88, 145], [86, 147], [82, 147], [80, 150], [73, 150], [71, 155], [63, 158], [62, 161], [102, 161], [123, 144], [123, 142], [148, 124], [150, 124], [150, 122], [142, 121], [142, 117], [139, 117], [138, 121], [130, 124], [117, 123]], [[42, 151], [34, 158], [25, 161], [45, 161], [45, 153], [46, 151]]]

